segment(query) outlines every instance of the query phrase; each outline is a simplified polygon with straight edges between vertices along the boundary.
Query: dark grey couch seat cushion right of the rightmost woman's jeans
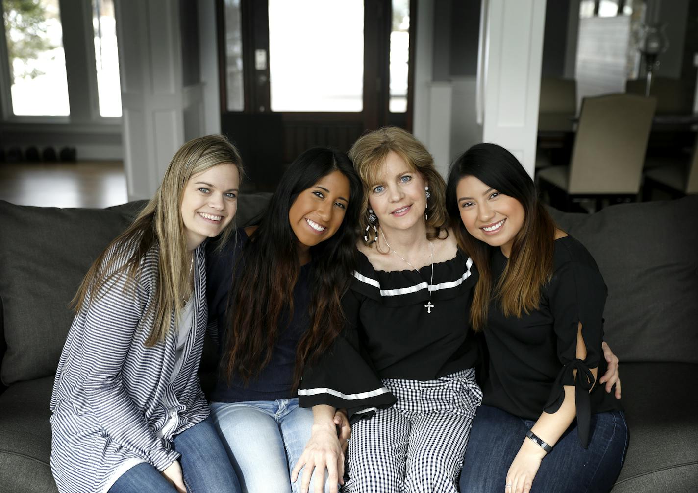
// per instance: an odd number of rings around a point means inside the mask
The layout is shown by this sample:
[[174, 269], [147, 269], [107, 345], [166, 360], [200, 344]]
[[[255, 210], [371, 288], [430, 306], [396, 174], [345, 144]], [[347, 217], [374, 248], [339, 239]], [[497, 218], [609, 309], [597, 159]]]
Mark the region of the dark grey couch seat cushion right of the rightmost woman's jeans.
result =
[[621, 363], [630, 446], [613, 493], [698, 485], [698, 365]]

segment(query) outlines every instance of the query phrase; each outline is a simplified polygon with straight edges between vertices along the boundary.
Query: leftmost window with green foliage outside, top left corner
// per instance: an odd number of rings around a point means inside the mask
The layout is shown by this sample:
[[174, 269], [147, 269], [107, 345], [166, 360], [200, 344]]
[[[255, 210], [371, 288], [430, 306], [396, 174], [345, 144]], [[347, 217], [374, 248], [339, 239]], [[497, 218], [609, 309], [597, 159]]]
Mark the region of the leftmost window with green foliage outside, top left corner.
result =
[[70, 114], [58, 0], [3, 0], [15, 115]]

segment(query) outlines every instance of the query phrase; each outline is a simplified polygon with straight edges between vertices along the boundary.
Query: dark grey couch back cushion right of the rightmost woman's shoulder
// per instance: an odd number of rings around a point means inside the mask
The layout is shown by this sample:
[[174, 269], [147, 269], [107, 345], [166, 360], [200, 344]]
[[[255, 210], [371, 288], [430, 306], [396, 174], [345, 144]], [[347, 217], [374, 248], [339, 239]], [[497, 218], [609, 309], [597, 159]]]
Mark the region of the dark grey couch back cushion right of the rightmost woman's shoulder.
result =
[[698, 196], [551, 214], [596, 259], [621, 361], [698, 363]]

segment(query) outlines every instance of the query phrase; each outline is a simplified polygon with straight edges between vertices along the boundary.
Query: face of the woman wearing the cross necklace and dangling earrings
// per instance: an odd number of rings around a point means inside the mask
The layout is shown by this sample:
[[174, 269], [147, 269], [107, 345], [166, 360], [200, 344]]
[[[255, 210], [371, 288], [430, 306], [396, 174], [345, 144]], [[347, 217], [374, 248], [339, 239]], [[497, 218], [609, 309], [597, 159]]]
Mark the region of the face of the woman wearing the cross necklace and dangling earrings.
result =
[[409, 229], [424, 221], [426, 182], [398, 154], [385, 157], [377, 183], [369, 190], [369, 205], [384, 229]]

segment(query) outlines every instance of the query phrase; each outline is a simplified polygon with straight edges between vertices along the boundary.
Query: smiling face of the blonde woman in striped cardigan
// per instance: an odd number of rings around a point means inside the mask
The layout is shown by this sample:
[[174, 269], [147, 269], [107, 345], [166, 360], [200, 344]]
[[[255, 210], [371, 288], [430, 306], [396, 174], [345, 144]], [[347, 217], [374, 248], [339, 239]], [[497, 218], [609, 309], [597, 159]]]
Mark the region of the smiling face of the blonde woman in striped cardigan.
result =
[[193, 174], [181, 197], [181, 220], [187, 246], [198, 247], [206, 238], [218, 236], [237, 211], [240, 176], [237, 167], [222, 164]]

